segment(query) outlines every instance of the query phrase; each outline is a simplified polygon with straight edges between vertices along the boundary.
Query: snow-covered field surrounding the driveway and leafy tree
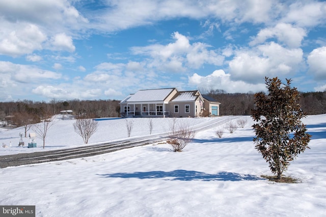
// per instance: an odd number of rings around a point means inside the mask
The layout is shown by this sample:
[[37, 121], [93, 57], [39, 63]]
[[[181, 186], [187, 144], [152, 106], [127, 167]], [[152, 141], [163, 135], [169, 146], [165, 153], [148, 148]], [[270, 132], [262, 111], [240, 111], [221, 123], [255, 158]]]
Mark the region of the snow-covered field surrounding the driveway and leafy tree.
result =
[[[301, 183], [276, 183], [254, 148], [252, 119], [222, 138], [216, 129], [234, 116], [182, 118], [198, 131], [182, 152], [166, 143], [101, 156], [0, 169], [1, 205], [36, 205], [36, 216], [325, 216], [326, 115], [303, 119], [313, 136], [284, 175]], [[243, 118], [243, 117], [241, 117]], [[149, 135], [147, 118], [133, 120], [131, 137]], [[168, 131], [171, 118], [153, 119], [152, 136]], [[84, 145], [74, 120], [56, 119], [45, 150]], [[42, 151], [17, 147], [19, 133], [0, 133], [0, 154]], [[99, 121], [89, 143], [128, 140], [125, 119]], [[12, 146], [10, 147], [10, 142]], [[28, 144], [29, 138], [24, 138]]]

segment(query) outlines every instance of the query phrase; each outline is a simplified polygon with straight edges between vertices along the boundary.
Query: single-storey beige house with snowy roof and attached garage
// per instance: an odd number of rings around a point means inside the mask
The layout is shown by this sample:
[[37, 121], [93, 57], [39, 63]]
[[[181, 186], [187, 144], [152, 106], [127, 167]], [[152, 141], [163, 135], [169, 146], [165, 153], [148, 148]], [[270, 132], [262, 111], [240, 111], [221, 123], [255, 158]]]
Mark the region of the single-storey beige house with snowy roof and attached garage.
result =
[[198, 90], [177, 88], [139, 90], [120, 102], [121, 117], [196, 117], [206, 109], [219, 115], [219, 108], [219, 102], [205, 100]]

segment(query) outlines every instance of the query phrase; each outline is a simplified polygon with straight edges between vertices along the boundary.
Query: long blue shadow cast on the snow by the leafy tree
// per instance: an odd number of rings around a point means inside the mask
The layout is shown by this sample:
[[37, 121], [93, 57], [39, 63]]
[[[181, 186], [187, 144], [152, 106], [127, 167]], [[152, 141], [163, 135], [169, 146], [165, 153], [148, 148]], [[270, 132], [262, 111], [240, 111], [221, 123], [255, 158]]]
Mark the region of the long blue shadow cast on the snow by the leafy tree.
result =
[[243, 181], [243, 180], [262, 180], [263, 178], [250, 175], [231, 172], [219, 172], [216, 174], [208, 174], [198, 171], [174, 170], [165, 171], [150, 171], [150, 172], [133, 172], [133, 173], [108, 173], [97, 174], [105, 178], [164, 178], [164, 180], [180, 180], [180, 181]]

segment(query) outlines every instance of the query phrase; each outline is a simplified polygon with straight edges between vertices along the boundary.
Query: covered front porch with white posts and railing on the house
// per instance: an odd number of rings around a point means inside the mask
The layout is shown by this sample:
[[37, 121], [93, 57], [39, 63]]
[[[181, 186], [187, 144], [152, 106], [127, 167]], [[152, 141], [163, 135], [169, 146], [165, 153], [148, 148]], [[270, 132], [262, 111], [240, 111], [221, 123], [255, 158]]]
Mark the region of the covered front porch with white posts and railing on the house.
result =
[[166, 117], [170, 112], [166, 110], [166, 103], [127, 103], [124, 106], [126, 117]]

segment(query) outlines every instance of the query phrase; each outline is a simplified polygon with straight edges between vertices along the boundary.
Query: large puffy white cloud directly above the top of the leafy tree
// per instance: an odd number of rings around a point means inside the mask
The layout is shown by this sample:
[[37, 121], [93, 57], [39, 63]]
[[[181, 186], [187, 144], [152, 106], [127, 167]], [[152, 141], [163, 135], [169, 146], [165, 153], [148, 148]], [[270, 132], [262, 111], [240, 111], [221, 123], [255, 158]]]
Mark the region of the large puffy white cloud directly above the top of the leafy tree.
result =
[[265, 76], [283, 78], [293, 75], [302, 65], [302, 49], [286, 49], [270, 42], [254, 50], [236, 51], [235, 57], [229, 62], [229, 70], [232, 79], [257, 83]]

